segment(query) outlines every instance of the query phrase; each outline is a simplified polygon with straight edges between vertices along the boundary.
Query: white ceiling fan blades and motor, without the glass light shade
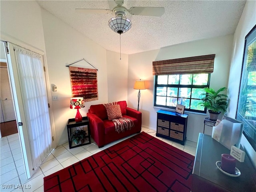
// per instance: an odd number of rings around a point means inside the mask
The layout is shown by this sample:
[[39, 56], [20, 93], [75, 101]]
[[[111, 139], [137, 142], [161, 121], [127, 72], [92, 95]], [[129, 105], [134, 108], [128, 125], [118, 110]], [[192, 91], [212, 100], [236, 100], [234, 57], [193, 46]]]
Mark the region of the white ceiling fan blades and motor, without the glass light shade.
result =
[[142, 16], [157, 16], [160, 17], [164, 14], [164, 7], [131, 7], [130, 9], [122, 6], [124, 0], [114, 0], [117, 6], [110, 9], [83, 9], [76, 8], [76, 12], [84, 14], [110, 14], [114, 13], [115, 16], [126, 17], [127, 13], [131, 15], [142, 15]]

